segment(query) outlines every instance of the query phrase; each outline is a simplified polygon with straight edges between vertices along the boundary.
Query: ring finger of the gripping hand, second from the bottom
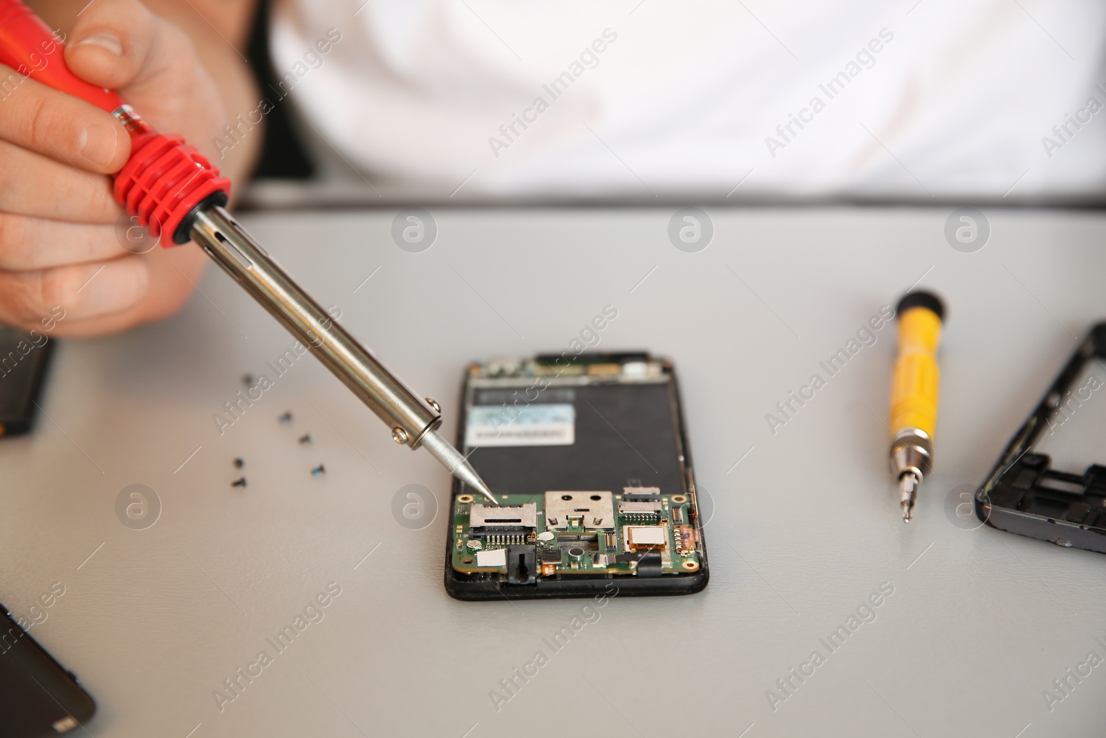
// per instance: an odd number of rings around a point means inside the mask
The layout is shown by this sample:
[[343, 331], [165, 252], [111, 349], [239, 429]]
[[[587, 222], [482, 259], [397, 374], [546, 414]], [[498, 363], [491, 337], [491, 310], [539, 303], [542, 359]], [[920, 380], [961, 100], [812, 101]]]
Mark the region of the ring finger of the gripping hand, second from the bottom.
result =
[[160, 248], [127, 217], [111, 226], [71, 224], [0, 212], [0, 270], [33, 271], [107, 261]]

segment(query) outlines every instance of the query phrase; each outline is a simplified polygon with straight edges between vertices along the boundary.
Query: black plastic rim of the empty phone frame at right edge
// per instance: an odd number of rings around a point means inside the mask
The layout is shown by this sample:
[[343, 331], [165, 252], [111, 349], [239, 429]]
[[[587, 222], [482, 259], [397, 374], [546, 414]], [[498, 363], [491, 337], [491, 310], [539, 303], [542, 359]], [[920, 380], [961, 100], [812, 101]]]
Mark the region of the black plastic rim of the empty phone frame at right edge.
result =
[[[1070, 401], [1088, 362], [1106, 357], [1106, 323], [1098, 323], [1072, 354], [975, 492], [975, 516], [988, 526], [1066, 548], [1106, 553], [1106, 466], [1082, 474], [1050, 468], [1034, 443]], [[1102, 459], [1106, 462], [1106, 459]]]

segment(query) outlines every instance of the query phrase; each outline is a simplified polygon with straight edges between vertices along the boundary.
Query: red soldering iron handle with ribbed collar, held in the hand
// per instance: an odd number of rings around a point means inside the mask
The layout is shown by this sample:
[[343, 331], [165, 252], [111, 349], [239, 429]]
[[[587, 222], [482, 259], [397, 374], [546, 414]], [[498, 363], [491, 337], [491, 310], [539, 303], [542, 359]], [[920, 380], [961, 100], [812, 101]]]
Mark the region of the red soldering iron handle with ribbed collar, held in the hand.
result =
[[196, 210], [226, 205], [230, 180], [180, 136], [156, 133], [112, 90], [77, 77], [65, 46], [21, 0], [0, 0], [0, 62], [18, 74], [80, 97], [115, 116], [131, 134], [131, 159], [115, 175], [115, 201], [163, 246], [186, 243]]

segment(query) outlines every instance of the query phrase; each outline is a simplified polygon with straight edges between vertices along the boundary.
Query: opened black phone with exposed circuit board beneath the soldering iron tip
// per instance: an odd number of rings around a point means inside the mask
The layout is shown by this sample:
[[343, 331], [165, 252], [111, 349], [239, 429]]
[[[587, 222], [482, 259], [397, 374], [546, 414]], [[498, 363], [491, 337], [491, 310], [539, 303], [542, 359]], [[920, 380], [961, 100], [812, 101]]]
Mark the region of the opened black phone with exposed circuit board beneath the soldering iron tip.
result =
[[670, 362], [645, 353], [469, 366], [458, 448], [499, 506], [453, 480], [459, 600], [690, 594], [707, 551]]

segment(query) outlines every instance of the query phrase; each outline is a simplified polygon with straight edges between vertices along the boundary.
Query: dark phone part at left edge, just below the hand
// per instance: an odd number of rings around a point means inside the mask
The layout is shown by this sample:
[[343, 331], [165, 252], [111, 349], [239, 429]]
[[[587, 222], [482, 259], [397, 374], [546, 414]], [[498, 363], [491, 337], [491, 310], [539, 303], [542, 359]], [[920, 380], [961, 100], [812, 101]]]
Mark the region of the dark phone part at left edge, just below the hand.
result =
[[0, 325], [0, 438], [34, 425], [35, 406], [54, 342], [45, 333]]

